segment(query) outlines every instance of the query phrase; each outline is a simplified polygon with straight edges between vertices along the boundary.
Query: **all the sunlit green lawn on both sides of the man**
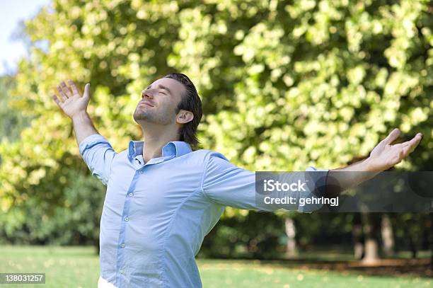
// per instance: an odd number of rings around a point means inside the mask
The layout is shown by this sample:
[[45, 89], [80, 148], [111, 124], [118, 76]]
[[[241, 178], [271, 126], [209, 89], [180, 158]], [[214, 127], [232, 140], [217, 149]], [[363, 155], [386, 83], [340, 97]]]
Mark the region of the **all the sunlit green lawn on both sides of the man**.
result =
[[[198, 260], [204, 287], [432, 287], [431, 278], [371, 276], [361, 272], [313, 270], [258, 260]], [[0, 272], [45, 272], [45, 285], [96, 287], [98, 255], [91, 247], [0, 246]], [[18, 287], [18, 284], [0, 284]]]

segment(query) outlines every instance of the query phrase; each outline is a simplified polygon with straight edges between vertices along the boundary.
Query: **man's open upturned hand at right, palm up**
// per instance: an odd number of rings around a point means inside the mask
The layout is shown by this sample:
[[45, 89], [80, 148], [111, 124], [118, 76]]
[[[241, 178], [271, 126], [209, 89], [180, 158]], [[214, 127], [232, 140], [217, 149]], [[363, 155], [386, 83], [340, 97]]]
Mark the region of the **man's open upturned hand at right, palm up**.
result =
[[367, 159], [369, 171], [385, 171], [400, 163], [415, 149], [422, 139], [422, 134], [417, 133], [415, 137], [407, 142], [391, 145], [399, 135], [400, 130], [397, 128], [393, 129], [385, 139], [374, 147]]

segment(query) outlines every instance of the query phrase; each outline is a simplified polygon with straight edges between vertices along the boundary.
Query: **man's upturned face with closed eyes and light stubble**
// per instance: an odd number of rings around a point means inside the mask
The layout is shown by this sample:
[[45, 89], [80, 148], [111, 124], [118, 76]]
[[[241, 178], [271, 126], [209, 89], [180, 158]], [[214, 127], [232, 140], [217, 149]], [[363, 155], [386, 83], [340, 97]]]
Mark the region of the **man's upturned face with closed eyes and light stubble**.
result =
[[175, 123], [178, 104], [185, 93], [182, 83], [161, 78], [142, 91], [142, 100], [134, 112], [134, 120], [140, 125], [151, 122], [159, 125]]

